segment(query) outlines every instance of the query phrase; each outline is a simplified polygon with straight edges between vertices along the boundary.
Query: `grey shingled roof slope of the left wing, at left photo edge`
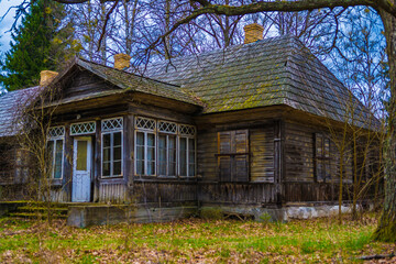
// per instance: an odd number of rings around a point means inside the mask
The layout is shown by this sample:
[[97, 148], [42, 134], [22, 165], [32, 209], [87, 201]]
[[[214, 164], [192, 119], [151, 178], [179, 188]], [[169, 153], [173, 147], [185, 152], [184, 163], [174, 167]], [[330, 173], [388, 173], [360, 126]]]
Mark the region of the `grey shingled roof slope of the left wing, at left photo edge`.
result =
[[7, 92], [0, 97], [0, 138], [16, 135], [19, 131], [19, 118], [25, 107], [40, 92], [40, 87]]

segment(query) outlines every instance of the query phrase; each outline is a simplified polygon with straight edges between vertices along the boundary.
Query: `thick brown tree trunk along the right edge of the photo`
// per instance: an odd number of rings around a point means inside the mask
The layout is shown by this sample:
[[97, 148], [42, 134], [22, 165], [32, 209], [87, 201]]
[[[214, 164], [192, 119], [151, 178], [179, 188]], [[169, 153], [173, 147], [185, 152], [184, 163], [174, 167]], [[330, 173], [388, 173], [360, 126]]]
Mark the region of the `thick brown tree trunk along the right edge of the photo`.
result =
[[396, 18], [380, 11], [385, 28], [387, 55], [391, 77], [391, 101], [387, 107], [388, 128], [384, 147], [385, 162], [385, 201], [382, 217], [374, 239], [396, 242], [396, 134], [395, 134], [395, 100], [396, 100]]

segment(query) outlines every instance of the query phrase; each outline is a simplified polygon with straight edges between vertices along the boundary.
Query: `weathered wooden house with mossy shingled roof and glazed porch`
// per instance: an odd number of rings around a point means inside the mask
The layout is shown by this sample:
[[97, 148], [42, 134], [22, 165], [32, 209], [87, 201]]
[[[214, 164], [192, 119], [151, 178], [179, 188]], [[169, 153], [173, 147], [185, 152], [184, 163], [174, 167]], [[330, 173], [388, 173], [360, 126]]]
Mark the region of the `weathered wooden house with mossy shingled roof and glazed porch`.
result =
[[[53, 200], [254, 216], [336, 201], [334, 131], [351, 116], [358, 127], [377, 120], [296, 37], [245, 31], [242, 45], [148, 65], [146, 77], [131, 73], [125, 54], [113, 68], [76, 58], [54, 77]], [[1, 111], [20, 92], [1, 97]]]

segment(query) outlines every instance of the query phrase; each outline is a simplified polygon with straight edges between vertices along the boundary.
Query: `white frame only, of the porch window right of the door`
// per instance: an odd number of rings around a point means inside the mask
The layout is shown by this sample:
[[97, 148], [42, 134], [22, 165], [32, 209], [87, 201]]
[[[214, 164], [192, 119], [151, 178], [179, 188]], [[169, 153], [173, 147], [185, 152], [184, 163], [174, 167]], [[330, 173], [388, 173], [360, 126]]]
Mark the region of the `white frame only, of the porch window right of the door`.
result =
[[[116, 129], [103, 129], [103, 123], [106, 121], [110, 121], [113, 119], [121, 119], [121, 128], [116, 128]], [[117, 117], [117, 118], [110, 118], [110, 119], [102, 119], [101, 122], [101, 163], [100, 163], [100, 172], [101, 172], [101, 178], [119, 178], [119, 177], [123, 177], [123, 118], [122, 117]], [[114, 147], [114, 133], [121, 133], [121, 174], [120, 175], [113, 175], [113, 170], [114, 170], [114, 157], [113, 157], [113, 147]], [[109, 176], [105, 176], [103, 175], [103, 136], [110, 134], [110, 175]]]

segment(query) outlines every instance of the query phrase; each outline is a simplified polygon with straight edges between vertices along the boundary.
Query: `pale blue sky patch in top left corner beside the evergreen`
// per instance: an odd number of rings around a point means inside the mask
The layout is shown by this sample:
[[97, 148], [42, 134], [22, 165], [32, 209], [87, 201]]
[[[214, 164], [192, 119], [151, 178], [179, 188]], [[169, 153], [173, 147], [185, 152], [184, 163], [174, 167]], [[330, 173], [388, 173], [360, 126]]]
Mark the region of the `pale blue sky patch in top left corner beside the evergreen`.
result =
[[[0, 18], [2, 18], [7, 10], [12, 6], [18, 6], [22, 0], [0, 0]], [[6, 18], [0, 22], [0, 51], [6, 52], [10, 48], [11, 34], [7, 32], [10, 30], [15, 15], [15, 9], [11, 9]], [[7, 32], [7, 33], [6, 33]]]

